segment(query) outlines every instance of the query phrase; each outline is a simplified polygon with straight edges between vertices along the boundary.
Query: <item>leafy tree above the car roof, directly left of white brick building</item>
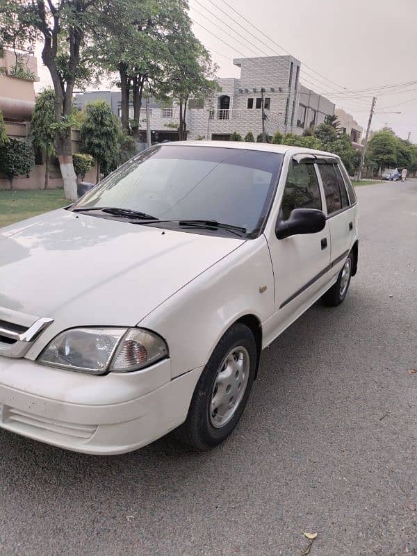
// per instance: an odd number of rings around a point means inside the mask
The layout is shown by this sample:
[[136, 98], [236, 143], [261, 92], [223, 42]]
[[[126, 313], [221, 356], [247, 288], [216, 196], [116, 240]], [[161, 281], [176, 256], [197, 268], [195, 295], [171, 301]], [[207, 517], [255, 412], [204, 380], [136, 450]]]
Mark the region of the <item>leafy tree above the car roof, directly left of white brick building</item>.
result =
[[161, 83], [161, 91], [165, 97], [177, 101], [179, 107], [179, 140], [187, 138], [186, 112], [188, 99], [206, 99], [215, 90], [216, 66], [211, 63], [210, 54], [191, 31], [184, 32], [169, 44], [170, 60], [167, 65], [165, 81]]

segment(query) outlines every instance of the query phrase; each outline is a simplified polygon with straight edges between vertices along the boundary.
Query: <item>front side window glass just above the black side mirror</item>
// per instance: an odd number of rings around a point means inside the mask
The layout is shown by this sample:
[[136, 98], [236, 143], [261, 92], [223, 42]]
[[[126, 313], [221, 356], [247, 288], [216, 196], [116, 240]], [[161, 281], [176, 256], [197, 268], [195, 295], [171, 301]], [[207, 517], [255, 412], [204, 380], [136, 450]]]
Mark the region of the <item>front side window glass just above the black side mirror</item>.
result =
[[281, 218], [288, 220], [294, 208], [318, 208], [320, 211], [322, 209], [320, 188], [312, 164], [297, 164], [291, 161], [288, 168], [281, 202]]

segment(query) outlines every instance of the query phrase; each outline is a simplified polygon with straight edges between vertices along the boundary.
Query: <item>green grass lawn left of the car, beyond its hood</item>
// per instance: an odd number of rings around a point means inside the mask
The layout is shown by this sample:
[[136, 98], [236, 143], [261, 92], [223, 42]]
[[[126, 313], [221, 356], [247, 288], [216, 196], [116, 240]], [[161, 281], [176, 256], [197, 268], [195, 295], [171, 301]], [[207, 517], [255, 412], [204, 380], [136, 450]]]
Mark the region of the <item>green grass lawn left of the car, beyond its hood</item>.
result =
[[0, 190], [0, 228], [66, 204], [63, 189]]

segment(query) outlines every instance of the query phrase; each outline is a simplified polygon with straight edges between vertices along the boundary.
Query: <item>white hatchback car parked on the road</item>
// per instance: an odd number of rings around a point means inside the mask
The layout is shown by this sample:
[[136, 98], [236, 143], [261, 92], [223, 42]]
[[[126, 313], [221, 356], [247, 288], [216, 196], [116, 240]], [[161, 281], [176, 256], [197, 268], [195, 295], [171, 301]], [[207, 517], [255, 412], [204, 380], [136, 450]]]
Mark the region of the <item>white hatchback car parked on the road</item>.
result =
[[234, 429], [261, 350], [357, 271], [338, 156], [175, 142], [0, 230], [0, 426], [90, 454]]

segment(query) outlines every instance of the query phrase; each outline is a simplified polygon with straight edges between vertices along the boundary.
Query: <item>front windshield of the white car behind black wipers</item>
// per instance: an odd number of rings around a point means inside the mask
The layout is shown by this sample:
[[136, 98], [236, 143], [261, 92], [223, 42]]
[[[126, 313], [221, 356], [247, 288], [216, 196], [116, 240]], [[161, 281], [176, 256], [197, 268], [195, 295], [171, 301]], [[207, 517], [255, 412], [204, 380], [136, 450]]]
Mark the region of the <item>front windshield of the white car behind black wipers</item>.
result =
[[268, 214], [282, 159], [279, 153], [251, 149], [156, 145], [72, 208], [122, 208], [163, 221], [212, 220], [245, 228], [250, 235]]

